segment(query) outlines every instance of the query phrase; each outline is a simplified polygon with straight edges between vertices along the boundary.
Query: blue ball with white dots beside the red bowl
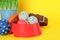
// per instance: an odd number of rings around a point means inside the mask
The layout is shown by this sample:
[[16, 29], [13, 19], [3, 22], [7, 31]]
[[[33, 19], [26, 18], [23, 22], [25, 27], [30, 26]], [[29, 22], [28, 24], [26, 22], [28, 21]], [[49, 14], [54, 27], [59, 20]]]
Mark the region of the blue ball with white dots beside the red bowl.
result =
[[0, 35], [7, 34], [10, 31], [10, 25], [6, 20], [0, 20]]

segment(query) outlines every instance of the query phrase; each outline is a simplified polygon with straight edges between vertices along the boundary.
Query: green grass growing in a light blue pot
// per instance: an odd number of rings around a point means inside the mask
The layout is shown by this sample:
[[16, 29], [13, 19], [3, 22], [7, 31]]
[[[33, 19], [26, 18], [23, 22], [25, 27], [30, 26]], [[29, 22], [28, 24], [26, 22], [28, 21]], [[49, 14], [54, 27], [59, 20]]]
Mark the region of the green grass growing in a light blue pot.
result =
[[8, 20], [10, 16], [17, 12], [17, 0], [2, 0], [0, 4], [0, 15], [2, 19]]

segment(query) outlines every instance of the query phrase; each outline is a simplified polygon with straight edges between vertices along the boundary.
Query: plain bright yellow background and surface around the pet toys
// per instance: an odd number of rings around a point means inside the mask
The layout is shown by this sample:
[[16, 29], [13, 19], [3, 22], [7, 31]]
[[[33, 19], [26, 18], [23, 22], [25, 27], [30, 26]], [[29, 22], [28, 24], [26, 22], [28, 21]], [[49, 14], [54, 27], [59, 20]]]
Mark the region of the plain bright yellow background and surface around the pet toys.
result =
[[48, 18], [48, 26], [41, 27], [42, 35], [32, 38], [0, 36], [0, 40], [60, 40], [60, 0], [20, 0], [19, 11], [38, 13]]

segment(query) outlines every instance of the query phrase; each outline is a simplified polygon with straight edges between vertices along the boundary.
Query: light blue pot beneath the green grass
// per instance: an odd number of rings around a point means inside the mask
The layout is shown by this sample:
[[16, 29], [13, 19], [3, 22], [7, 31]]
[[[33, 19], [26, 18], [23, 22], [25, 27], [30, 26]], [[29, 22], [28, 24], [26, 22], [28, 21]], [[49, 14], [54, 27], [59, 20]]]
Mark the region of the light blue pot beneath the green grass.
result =
[[0, 10], [2, 19], [6, 19], [6, 20], [8, 20], [16, 12], [17, 10]]

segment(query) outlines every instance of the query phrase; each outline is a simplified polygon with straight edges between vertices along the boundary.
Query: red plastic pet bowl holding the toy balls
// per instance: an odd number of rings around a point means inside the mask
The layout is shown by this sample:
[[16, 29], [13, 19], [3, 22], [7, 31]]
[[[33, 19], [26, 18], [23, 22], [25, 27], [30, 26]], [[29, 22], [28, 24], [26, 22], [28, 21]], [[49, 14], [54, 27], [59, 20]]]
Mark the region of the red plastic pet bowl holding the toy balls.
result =
[[41, 35], [39, 23], [36, 24], [12, 23], [12, 32], [15, 37], [34, 37]]

